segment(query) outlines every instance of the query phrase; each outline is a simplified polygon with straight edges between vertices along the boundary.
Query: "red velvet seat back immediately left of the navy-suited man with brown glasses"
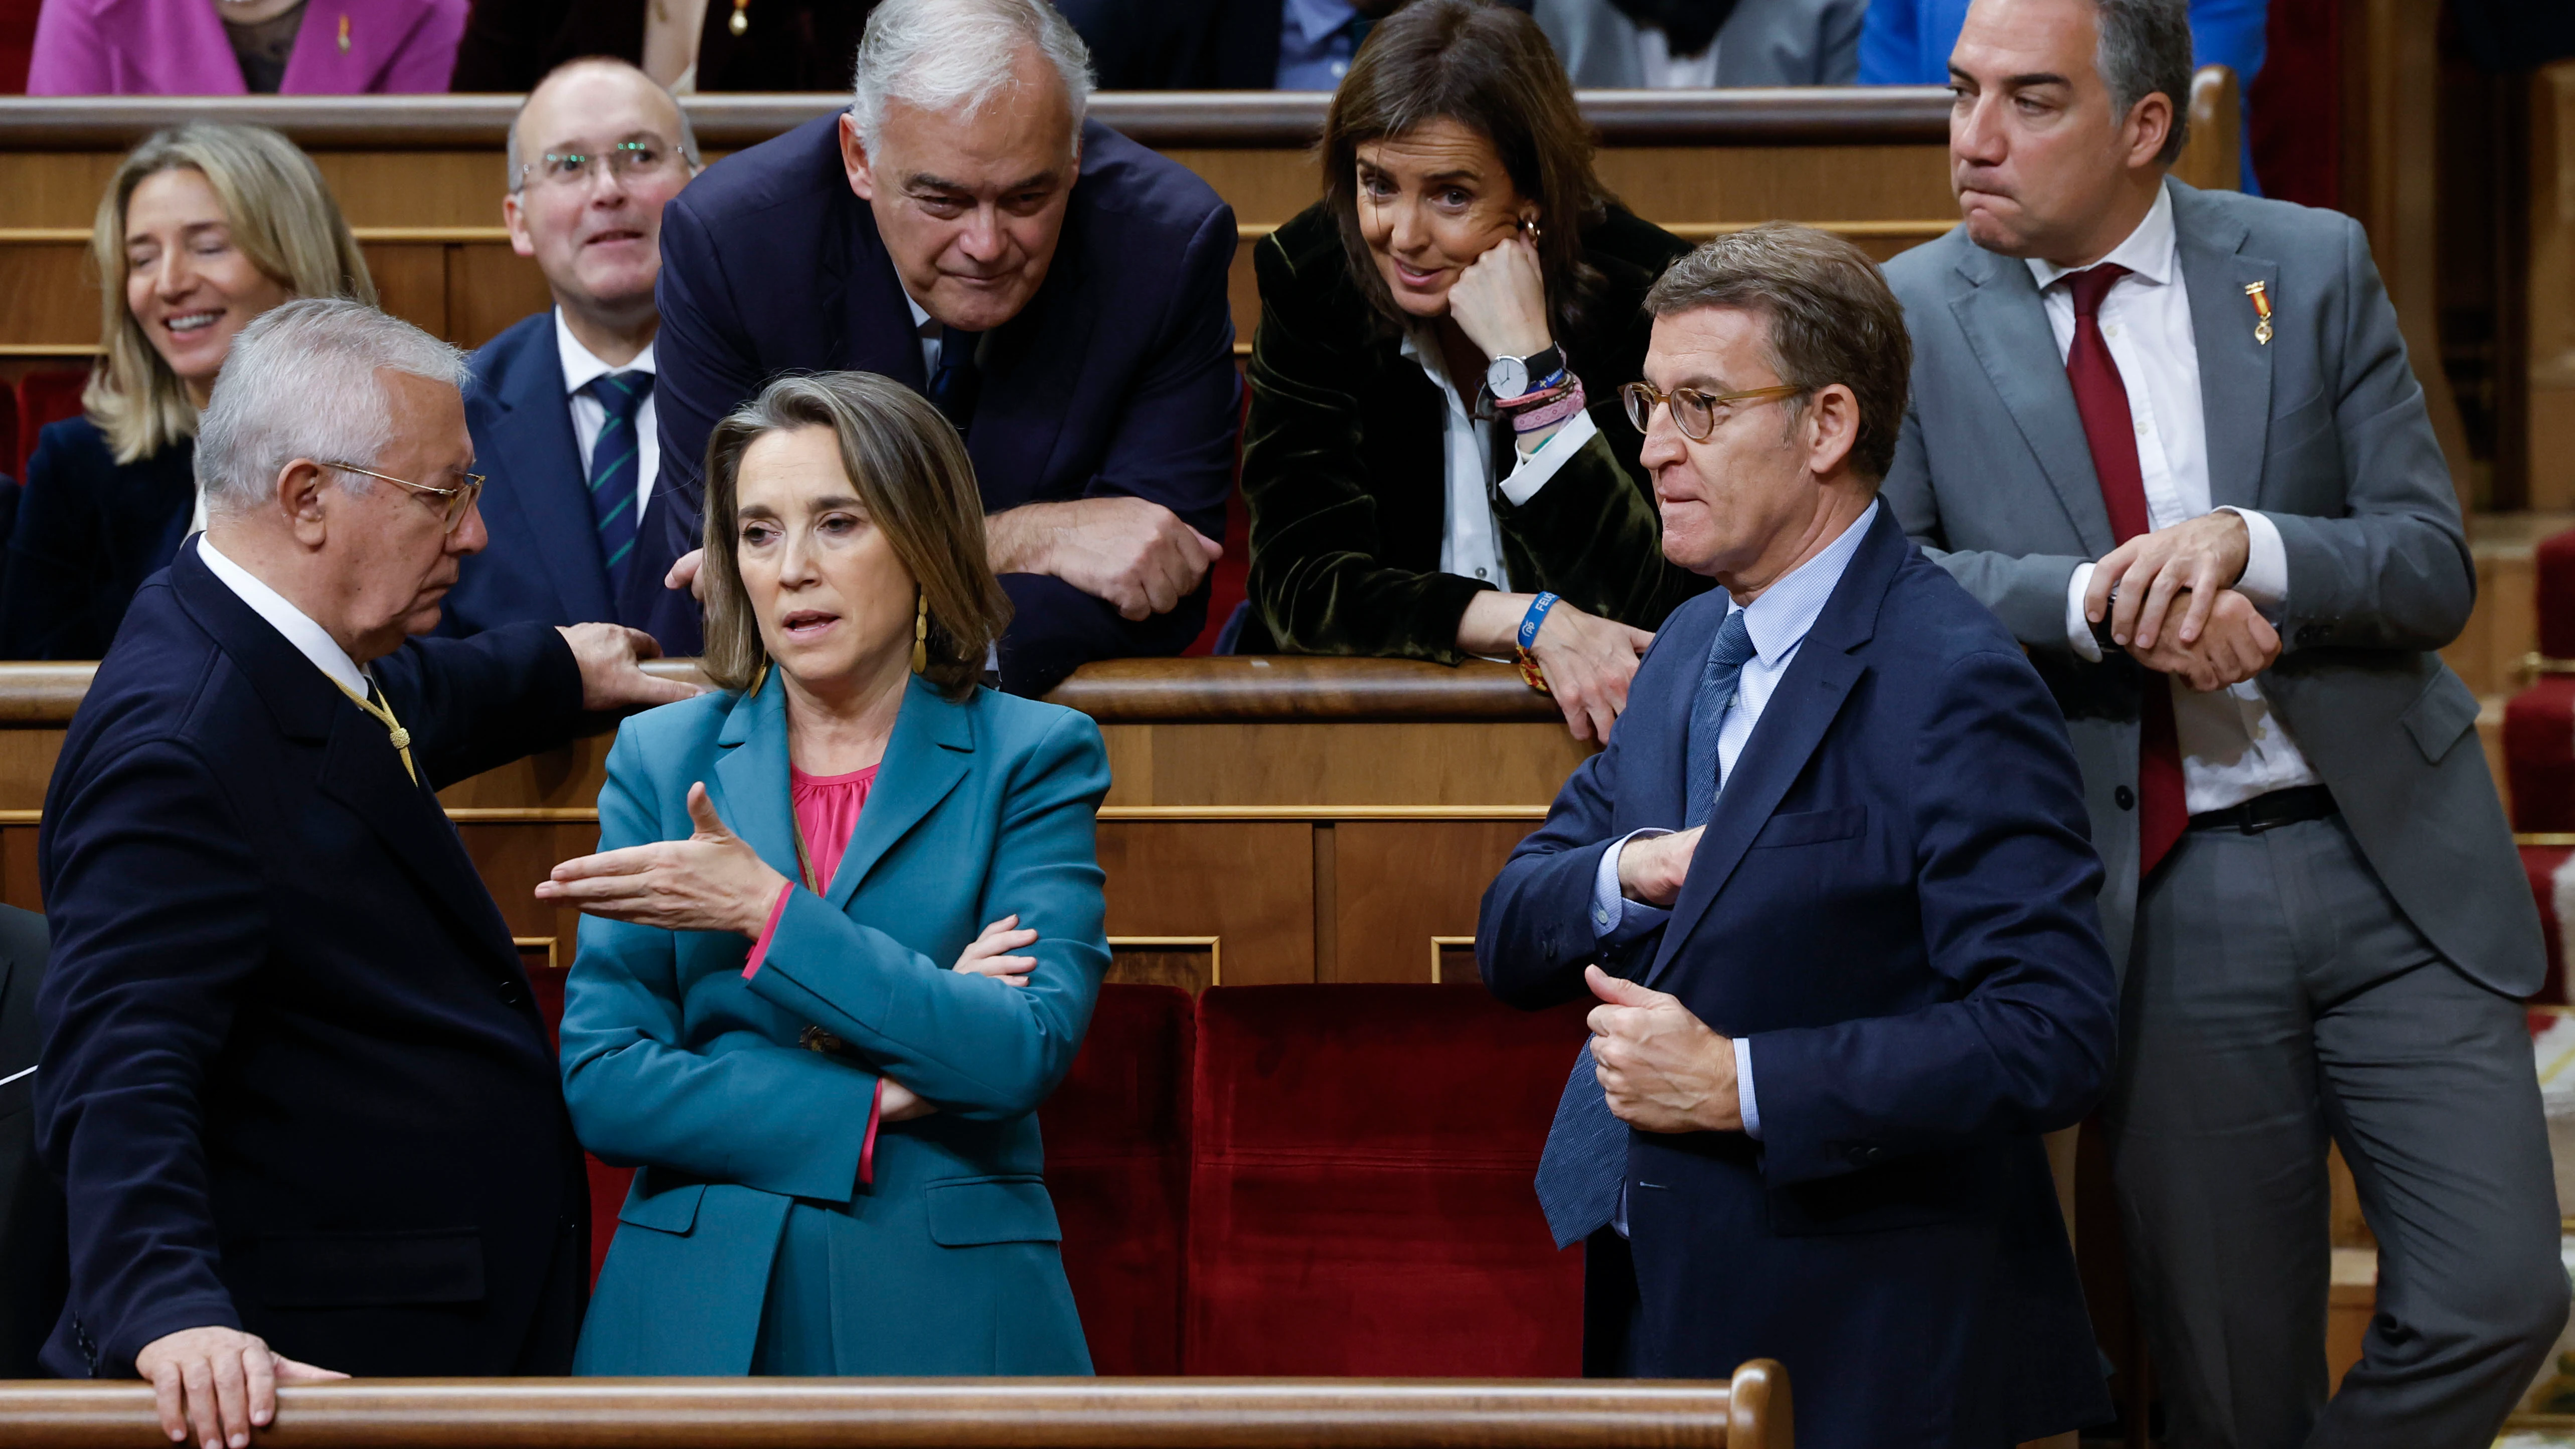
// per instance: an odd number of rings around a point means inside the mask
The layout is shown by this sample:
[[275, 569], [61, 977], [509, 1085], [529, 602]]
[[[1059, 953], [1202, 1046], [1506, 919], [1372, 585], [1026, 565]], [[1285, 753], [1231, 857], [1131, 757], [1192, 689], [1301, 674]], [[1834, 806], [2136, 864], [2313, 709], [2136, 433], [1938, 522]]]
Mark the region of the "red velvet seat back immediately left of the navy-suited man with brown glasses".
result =
[[1530, 1181], [1584, 1009], [1455, 986], [1197, 999], [1192, 1374], [1581, 1372]]

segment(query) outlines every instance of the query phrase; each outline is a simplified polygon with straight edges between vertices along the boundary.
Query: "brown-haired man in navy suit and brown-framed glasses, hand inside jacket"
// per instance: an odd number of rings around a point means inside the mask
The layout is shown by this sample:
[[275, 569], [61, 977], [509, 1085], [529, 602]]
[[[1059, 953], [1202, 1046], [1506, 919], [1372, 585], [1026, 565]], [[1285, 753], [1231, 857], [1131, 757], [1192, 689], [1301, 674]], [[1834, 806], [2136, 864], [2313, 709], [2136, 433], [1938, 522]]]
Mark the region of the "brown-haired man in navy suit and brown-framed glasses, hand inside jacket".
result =
[[1877, 499], [1903, 311], [1803, 226], [1645, 306], [1663, 553], [1723, 587], [1475, 929], [1504, 1001], [1599, 999], [1537, 1168], [1586, 1369], [1779, 1359], [1808, 1449], [2106, 1421], [2039, 1145], [2109, 1078], [2101, 860], [2047, 687]]

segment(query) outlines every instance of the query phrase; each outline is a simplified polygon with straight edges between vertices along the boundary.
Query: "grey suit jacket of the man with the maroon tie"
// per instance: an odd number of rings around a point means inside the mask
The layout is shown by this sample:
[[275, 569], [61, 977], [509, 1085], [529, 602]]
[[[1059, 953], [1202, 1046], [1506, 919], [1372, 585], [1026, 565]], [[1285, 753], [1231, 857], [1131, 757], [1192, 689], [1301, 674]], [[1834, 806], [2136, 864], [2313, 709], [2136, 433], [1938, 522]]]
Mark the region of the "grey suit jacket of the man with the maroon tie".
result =
[[[2289, 556], [2281, 656], [2261, 690], [2333, 790], [2397, 906], [2472, 981], [2539, 988], [2539, 911], [2477, 746], [2477, 697], [2433, 654], [2477, 577], [2449, 468], [2361, 226], [2233, 190], [2173, 190], [2209, 432], [2209, 504], [2261, 510]], [[2276, 335], [2253, 340], [2245, 283]], [[2137, 909], [2137, 667], [2065, 641], [2075, 564], [2112, 548], [2073, 386], [2029, 268], [1965, 229], [1887, 263], [1913, 399], [1885, 497], [2029, 646], [2083, 759], [2101, 924], [2127, 963]]]

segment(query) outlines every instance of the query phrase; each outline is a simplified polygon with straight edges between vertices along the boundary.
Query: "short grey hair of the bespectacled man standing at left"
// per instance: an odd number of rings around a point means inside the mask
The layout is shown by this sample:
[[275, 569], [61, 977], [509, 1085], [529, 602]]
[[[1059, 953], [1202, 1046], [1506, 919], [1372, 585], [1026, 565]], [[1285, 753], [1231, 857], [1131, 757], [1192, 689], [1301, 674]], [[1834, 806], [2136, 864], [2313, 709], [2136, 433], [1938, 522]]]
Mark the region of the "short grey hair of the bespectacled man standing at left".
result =
[[[373, 463], [394, 440], [381, 371], [464, 389], [469, 358], [363, 301], [306, 296], [263, 311], [224, 355], [196, 427], [209, 515], [258, 507], [296, 458]], [[340, 486], [368, 492], [360, 474]]]

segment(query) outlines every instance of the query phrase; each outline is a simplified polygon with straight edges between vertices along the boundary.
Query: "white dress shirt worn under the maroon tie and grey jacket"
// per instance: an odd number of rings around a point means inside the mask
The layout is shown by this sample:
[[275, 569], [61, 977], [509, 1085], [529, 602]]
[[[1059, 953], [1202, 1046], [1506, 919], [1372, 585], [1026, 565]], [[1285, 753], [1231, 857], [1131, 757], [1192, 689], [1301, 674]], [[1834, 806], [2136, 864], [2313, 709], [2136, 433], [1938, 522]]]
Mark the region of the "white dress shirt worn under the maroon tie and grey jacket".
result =
[[[2145, 474], [2145, 515], [2153, 528], [2173, 528], [2209, 512], [2209, 427], [2199, 399], [2199, 342], [2191, 332], [2191, 293], [2181, 275], [2181, 245], [2173, 234], [2173, 193], [2158, 188], [2145, 221], [2119, 242], [2104, 263], [2119, 263], [2130, 275], [2112, 283], [2101, 299], [2101, 340], [2127, 412], [2137, 422], [2137, 471]], [[2070, 275], [2055, 263], [2029, 263], [2032, 281], [2047, 304], [2047, 324], [2057, 335], [2057, 358], [2075, 345], [2075, 299]], [[2274, 623], [2289, 600], [2289, 553], [2279, 525], [2248, 507], [2227, 507], [2245, 520], [2245, 577], [2235, 592]], [[2083, 618], [2083, 589], [2091, 564], [2078, 564], [2065, 587], [2065, 641], [2083, 659], [2101, 659], [2101, 643]], [[2181, 610], [2166, 615], [2176, 628]], [[2173, 734], [2181, 739], [2184, 806], [2196, 816], [2240, 806], [2253, 795], [2315, 785], [2318, 775], [2261, 685], [2245, 679], [2230, 690], [2202, 695], [2173, 685]]]

